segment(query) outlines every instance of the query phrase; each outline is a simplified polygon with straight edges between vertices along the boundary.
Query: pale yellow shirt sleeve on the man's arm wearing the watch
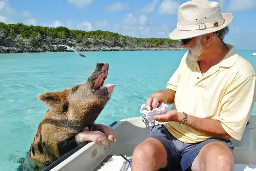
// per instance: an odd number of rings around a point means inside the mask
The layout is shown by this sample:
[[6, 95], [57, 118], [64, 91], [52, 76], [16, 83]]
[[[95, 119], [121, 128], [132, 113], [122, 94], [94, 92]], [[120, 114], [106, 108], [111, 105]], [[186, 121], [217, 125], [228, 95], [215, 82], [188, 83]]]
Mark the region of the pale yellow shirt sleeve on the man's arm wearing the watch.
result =
[[[241, 77], [241, 76], [240, 76]], [[256, 98], [255, 75], [236, 79], [220, 102], [222, 128], [234, 139], [241, 140]]]

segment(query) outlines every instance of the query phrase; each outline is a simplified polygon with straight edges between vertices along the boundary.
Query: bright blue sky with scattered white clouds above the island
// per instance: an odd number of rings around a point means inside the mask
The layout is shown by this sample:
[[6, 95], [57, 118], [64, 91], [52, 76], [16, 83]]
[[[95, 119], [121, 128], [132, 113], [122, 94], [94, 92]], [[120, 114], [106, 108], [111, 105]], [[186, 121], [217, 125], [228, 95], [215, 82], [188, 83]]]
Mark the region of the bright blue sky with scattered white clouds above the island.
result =
[[[70, 29], [113, 31], [134, 37], [168, 37], [177, 8], [187, 0], [0, 0], [0, 21]], [[256, 0], [216, 0], [233, 21], [225, 42], [256, 50]]]

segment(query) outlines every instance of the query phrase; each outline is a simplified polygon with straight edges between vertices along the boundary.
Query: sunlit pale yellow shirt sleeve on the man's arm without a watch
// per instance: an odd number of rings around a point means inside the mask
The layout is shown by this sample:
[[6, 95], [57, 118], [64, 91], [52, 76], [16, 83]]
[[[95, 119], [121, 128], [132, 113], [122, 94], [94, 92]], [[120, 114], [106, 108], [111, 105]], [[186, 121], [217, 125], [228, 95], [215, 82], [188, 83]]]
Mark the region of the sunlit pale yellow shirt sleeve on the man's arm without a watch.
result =
[[[186, 53], [187, 54], [187, 53]], [[177, 90], [179, 81], [180, 81], [180, 73], [181, 73], [181, 68], [182, 68], [182, 64], [184, 63], [184, 60], [186, 60], [186, 56], [184, 55], [183, 58], [180, 61], [180, 65], [178, 66], [178, 68], [175, 70], [175, 72], [173, 73], [172, 77], [169, 79], [169, 81], [166, 83], [166, 89], [172, 89], [173, 91]]]

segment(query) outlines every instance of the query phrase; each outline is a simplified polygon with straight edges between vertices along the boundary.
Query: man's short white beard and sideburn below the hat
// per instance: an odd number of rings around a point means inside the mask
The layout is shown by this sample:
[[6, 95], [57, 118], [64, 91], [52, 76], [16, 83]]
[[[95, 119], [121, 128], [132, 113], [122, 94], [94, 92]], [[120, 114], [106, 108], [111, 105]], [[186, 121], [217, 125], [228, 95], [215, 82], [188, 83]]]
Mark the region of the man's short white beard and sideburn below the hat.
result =
[[193, 47], [192, 49], [186, 47], [186, 49], [190, 50], [190, 51], [188, 51], [188, 58], [192, 61], [198, 61], [198, 58], [203, 51], [203, 45], [201, 43], [201, 36], [196, 37], [196, 46], [195, 47]]

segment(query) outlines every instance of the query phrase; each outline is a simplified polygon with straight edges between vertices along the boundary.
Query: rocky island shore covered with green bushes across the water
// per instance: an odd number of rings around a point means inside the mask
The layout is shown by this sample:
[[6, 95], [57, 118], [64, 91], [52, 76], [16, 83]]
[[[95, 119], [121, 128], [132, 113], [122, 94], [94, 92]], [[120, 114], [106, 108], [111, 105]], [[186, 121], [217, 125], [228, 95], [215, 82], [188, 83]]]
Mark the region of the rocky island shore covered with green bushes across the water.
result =
[[62, 52], [63, 46], [79, 51], [184, 50], [169, 38], [136, 38], [109, 31], [84, 31], [66, 27], [43, 27], [0, 22], [0, 53]]

